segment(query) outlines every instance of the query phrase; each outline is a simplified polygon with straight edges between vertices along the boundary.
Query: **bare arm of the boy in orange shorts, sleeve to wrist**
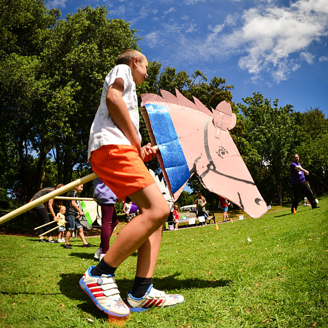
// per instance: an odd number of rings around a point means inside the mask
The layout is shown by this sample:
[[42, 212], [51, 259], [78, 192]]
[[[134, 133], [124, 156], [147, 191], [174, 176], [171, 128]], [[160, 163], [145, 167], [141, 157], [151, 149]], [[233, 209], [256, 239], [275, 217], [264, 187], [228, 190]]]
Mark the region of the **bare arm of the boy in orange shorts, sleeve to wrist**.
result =
[[116, 78], [114, 83], [108, 88], [106, 105], [114, 123], [128, 138], [128, 140], [131, 142], [131, 145], [137, 148], [139, 156], [142, 160], [144, 160], [144, 154], [141, 151], [139, 138], [130, 119], [128, 107], [122, 98], [123, 91], [123, 79]]

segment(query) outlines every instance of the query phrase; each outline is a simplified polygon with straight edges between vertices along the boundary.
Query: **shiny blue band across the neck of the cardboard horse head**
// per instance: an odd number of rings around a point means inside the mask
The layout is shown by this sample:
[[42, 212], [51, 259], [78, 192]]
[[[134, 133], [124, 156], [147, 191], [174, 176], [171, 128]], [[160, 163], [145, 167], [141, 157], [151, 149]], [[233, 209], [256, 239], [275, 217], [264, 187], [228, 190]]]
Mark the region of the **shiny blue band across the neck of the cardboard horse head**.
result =
[[166, 106], [145, 105], [173, 194], [190, 178], [186, 157]]

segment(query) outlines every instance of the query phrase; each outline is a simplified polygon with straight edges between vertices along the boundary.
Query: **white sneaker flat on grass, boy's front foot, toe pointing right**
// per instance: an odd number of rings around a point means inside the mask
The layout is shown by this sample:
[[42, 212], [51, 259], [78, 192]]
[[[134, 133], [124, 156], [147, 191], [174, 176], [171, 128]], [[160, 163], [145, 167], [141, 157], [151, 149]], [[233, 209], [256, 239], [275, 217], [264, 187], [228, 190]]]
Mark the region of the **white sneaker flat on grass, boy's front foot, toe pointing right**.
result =
[[165, 292], [158, 291], [153, 288], [151, 284], [143, 297], [135, 298], [128, 292], [127, 303], [130, 306], [131, 312], [146, 311], [152, 306], [160, 306], [166, 308], [167, 306], [175, 306], [185, 301], [182, 295], [179, 294], [165, 294]]

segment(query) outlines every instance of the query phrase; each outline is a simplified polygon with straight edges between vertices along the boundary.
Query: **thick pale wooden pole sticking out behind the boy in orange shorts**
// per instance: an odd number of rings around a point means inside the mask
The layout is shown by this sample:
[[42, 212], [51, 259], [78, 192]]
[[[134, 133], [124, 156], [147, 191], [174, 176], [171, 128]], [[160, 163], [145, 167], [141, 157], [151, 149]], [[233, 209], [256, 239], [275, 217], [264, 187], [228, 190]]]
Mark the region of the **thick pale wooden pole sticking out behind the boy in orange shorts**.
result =
[[87, 182], [95, 179], [96, 177], [98, 177], [98, 175], [96, 175], [95, 173], [88, 174], [87, 176], [77, 179], [75, 181], [72, 181], [63, 187], [60, 187], [60, 188], [50, 192], [47, 195], [44, 195], [40, 198], [32, 200], [31, 202], [19, 207], [18, 209], [13, 210], [12, 212], [2, 216], [0, 218], [0, 224], [5, 223], [5, 222], [13, 219], [16, 216], [23, 214], [23, 213], [35, 208], [36, 206], [47, 202], [51, 198], [54, 198], [61, 194], [64, 194], [64, 193], [74, 189], [76, 186], [83, 185], [83, 183], [87, 183]]

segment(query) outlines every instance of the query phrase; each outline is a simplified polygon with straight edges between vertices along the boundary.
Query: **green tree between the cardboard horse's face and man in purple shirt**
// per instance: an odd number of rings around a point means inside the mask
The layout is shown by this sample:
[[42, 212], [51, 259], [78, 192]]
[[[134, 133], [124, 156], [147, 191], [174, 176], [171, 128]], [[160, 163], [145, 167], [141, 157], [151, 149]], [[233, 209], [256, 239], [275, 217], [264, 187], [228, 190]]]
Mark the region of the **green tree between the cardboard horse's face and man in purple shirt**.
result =
[[[259, 92], [242, 100], [246, 105], [237, 106], [245, 117], [245, 135], [254, 154], [254, 167], [258, 168], [257, 173], [261, 172], [262, 177], [267, 176], [265, 173], [274, 177], [277, 200], [281, 204], [283, 184], [289, 180], [289, 159], [295, 137], [292, 106], [278, 108], [278, 99], [273, 101], [272, 106], [271, 100]], [[257, 182], [258, 176], [253, 174], [253, 177]], [[260, 192], [263, 187], [258, 185]]]

